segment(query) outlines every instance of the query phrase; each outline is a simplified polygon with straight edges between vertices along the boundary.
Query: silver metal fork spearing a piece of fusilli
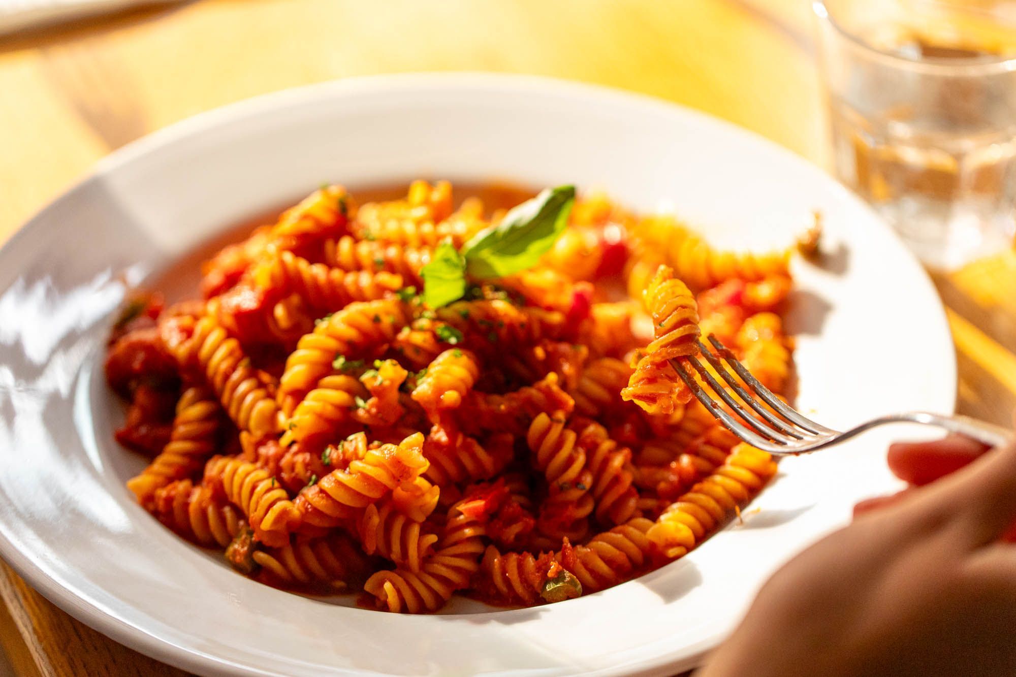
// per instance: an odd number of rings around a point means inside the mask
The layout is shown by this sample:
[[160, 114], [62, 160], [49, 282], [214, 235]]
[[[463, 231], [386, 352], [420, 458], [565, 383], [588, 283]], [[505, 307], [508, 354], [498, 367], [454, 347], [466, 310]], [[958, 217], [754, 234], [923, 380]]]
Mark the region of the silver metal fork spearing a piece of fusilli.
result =
[[[698, 342], [699, 351], [706, 362], [726, 382], [729, 391], [695, 356], [671, 360], [671, 364], [698, 401], [731, 432], [752, 446], [770, 453], [783, 455], [816, 451], [833, 444], [839, 444], [866, 430], [889, 423], [920, 423], [938, 426], [990, 446], [1000, 446], [1014, 439], [1012, 432], [983, 421], [966, 416], [941, 416], [929, 412], [906, 412], [881, 416], [849, 430], [838, 432], [802, 416], [800, 412], [782, 403], [769, 388], [752, 376], [751, 372], [734, 357], [734, 353], [724, 347], [718, 338], [710, 335], [708, 341], [713, 352], [710, 352], [701, 341]], [[689, 371], [689, 366], [709, 384], [713, 392], [731, 408], [733, 414], [709, 395]], [[731, 372], [732, 369], [734, 373]], [[738, 380], [738, 377], [748, 386], [747, 389]], [[737, 394], [737, 397], [731, 392]], [[755, 415], [745, 409], [738, 402], [738, 398], [744, 402], [744, 405], [747, 405]]]

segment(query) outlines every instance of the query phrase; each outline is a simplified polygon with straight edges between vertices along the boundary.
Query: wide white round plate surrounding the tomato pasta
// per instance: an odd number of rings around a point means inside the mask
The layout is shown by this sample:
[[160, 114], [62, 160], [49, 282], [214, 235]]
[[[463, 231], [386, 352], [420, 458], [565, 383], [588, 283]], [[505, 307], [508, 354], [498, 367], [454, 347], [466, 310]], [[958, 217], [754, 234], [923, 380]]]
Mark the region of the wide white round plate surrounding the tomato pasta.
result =
[[[131, 144], [0, 252], [0, 554], [50, 600], [145, 654], [216, 674], [673, 673], [727, 633], [781, 562], [895, 487], [885, 437], [791, 458], [744, 526], [683, 560], [547, 607], [396, 616], [240, 576], [145, 514], [112, 432], [104, 342], [128, 285], [322, 181], [508, 178], [602, 187], [737, 244], [785, 243], [813, 208], [833, 269], [798, 265], [798, 403], [832, 426], [952, 410], [938, 298], [876, 217], [822, 172], [660, 102], [551, 80], [412, 75], [214, 111]], [[461, 609], [475, 609], [468, 604]], [[454, 611], [453, 608], [451, 611]]]

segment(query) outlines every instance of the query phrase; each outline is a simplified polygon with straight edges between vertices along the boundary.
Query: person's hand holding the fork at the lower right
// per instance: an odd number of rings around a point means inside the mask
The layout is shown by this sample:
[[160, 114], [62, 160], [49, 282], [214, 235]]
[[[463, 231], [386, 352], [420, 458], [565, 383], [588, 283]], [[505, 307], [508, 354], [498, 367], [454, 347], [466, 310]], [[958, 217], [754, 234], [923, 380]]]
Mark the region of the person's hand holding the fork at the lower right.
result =
[[920, 486], [777, 571], [701, 677], [1016, 674], [1016, 546], [1000, 543], [1016, 444], [895, 444], [889, 464]]

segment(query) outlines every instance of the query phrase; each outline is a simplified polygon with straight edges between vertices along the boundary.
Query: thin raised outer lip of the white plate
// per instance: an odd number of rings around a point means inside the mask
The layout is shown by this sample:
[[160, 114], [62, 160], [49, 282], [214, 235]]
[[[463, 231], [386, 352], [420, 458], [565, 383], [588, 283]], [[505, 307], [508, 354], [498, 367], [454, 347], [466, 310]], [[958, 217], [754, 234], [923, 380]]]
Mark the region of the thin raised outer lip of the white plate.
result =
[[[878, 222], [881, 228], [902, 244], [899, 235], [879, 217], [867, 203], [861, 200], [855, 194], [845, 186], [829, 176], [825, 170], [809, 160], [803, 158], [789, 148], [780, 145], [776, 141], [762, 136], [758, 132], [742, 127], [728, 120], [716, 117], [704, 111], [690, 108], [683, 104], [678, 104], [664, 99], [652, 97], [639, 91], [623, 89], [616, 86], [580, 82], [576, 80], [563, 79], [545, 75], [530, 75], [519, 73], [496, 73], [483, 71], [453, 71], [453, 72], [419, 72], [419, 73], [390, 73], [345, 77], [340, 79], [325, 80], [310, 84], [288, 87], [276, 91], [260, 94], [251, 98], [232, 102], [220, 107], [202, 111], [193, 116], [176, 121], [166, 127], [154, 130], [141, 136], [111, 153], [99, 159], [90, 169], [72, 182], [66, 189], [50, 199], [42, 208], [35, 211], [24, 221], [11, 237], [0, 247], [0, 256], [6, 254], [11, 248], [27, 237], [33, 230], [34, 224], [49, 209], [59, 202], [66, 200], [69, 196], [78, 191], [85, 190], [89, 184], [100, 181], [106, 175], [116, 172], [125, 165], [130, 164], [135, 159], [145, 157], [152, 152], [157, 152], [165, 146], [172, 145], [177, 140], [199, 134], [214, 128], [225, 122], [238, 119], [257, 117], [259, 115], [270, 114], [273, 111], [283, 110], [288, 107], [299, 107], [319, 99], [341, 98], [344, 96], [356, 96], [358, 93], [372, 93], [378, 90], [400, 89], [403, 93], [412, 90], [431, 90], [434, 88], [455, 87], [455, 88], [494, 88], [503, 91], [524, 93], [541, 91], [559, 94], [561, 96], [577, 97], [584, 99], [612, 100], [628, 105], [639, 106], [646, 110], [653, 110], [661, 114], [674, 114], [679, 112], [687, 118], [694, 118], [703, 124], [713, 127], [725, 128], [728, 133], [739, 136], [753, 137], [754, 141], [768, 147], [769, 151], [783, 156], [788, 162], [807, 168], [816, 173], [822, 174], [828, 184], [830, 191], [839, 192], [847, 200], [856, 203], [869, 213], [872, 221]], [[902, 247], [905, 255], [915, 262], [913, 254]], [[917, 264], [915, 269], [923, 279], [923, 285], [934, 291], [934, 284], [928, 271]], [[948, 318], [941, 298], [935, 294], [938, 303], [934, 305], [935, 310], [929, 312], [930, 316], [936, 315], [935, 321], [940, 325], [945, 336], [948, 337], [950, 346], [954, 346], [952, 334], [949, 329]], [[950, 352], [949, 362], [944, 365], [949, 379], [949, 391], [953, 394], [948, 397], [947, 406], [943, 408], [945, 413], [953, 413], [956, 404], [956, 385], [958, 380], [957, 363], [955, 351]], [[946, 388], [943, 387], [943, 390]], [[52, 602], [61, 610], [71, 615], [76, 620], [88, 625], [92, 629], [102, 632], [110, 638], [118, 641], [130, 649], [133, 649], [149, 658], [165, 662], [174, 667], [183, 668], [189, 671], [203, 674], [236, 674], [236, 675], [270, 675], [273, 672], [257, 669], [249, 665], [238, 664], [228, 658], [216, 656], [195, 647], [180, 647], [171, 640], [145, 630], [142, 627], [132, 625], [121, 620], [110, 610], [92, 602], [87, 602], [78, 597], [70, 589], [62, 586], [51, 576], [45, 568], [37, 565], [28, 553], [17, 550], [8, 540], [3, 530], [0, 530], [0, 556], [4, 561], [17, 572], [34, 591], [41, 594], [48, 601]], [[724, 632], [712, 633], [711, 640], [703, 639], [698, 642], [699, 648], [693, 653], [688, 652], [688, 647], [676, 648], [673, 652], [656, 654], [645, 659], [640, 659], [634, 664], [626, 666], [624, 669], [607, 669], [607, 673], [614, 674], [624, 672], [625, 674], [656, 674], [666, 671], [669, 666], [675, 665], [676, 660], [680, 660], [676, 655], [684, 657], [685, 662], [700, 660], [715, 644], [715, 639], [724, 635]], [[703, 645], [708, 644], [708, 645]], [[597, 673], [600, 671], [597, 671]]]

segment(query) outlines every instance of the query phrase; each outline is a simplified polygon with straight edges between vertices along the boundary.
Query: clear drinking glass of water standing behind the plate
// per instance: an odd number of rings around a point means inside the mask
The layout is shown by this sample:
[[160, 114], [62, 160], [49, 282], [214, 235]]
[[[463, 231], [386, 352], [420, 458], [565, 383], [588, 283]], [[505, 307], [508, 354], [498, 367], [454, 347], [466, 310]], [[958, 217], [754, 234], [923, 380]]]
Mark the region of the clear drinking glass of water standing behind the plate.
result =
[[1011, 246], [1016, 2], [814, 3], [837, 177], [932, 268]]

